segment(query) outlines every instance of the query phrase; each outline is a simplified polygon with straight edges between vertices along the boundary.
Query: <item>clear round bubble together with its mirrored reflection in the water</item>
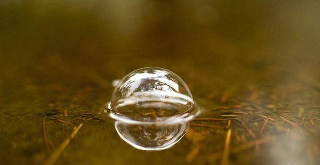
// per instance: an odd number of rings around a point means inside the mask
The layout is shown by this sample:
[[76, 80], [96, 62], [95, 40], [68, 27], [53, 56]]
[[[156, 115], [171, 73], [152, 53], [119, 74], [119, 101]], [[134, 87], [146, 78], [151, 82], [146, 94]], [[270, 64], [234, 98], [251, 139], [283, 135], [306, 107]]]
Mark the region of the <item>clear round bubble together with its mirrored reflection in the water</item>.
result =
[[200, 113], [185, 82], [169, 70], [141, 68], [115, 83], [106, 111], [119, 136], [137, 149], [172, 147]]

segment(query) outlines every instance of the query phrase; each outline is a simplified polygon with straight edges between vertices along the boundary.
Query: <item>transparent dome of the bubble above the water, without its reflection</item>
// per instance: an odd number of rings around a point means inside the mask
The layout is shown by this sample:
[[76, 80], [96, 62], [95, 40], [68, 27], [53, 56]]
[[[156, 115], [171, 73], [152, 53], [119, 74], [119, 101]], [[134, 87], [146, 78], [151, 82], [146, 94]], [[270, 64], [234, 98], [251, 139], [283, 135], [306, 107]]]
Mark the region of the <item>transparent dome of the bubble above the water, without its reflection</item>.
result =
[[197, 114], [192, 94], [175, 73], [146, 67], [126, 75], [107, 107], [109, 115], [129, 123], [181, 122]]

